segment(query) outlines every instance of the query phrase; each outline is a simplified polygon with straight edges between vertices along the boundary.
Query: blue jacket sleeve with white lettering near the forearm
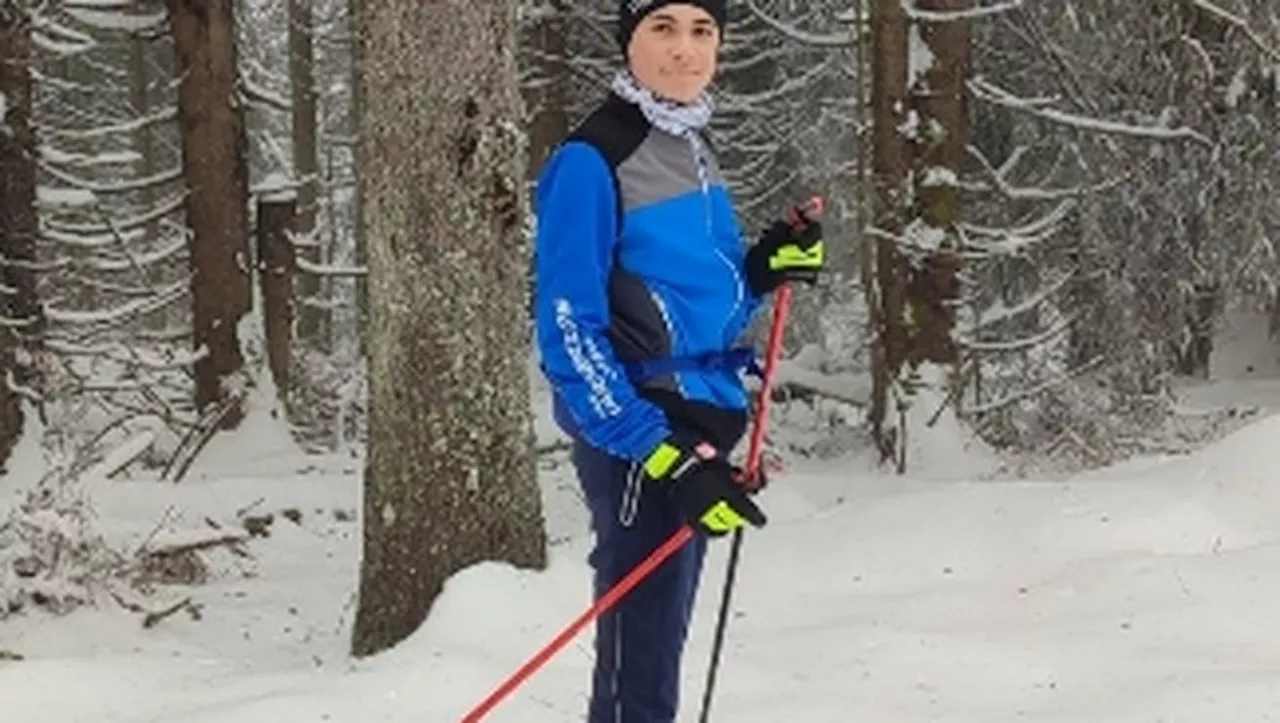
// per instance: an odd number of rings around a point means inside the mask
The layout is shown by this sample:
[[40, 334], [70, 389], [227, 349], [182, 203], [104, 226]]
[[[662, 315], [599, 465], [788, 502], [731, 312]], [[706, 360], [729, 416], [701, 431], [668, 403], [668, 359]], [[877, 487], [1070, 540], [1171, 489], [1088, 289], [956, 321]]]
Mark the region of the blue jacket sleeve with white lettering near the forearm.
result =
[[588, 444], [641, 461], [668, 435], [666, 415], [639, 397], [605, 335], [617, 246], [613, 174], [593, 146], [571, 141], [538, 180], [534, 315], [543, 374]]

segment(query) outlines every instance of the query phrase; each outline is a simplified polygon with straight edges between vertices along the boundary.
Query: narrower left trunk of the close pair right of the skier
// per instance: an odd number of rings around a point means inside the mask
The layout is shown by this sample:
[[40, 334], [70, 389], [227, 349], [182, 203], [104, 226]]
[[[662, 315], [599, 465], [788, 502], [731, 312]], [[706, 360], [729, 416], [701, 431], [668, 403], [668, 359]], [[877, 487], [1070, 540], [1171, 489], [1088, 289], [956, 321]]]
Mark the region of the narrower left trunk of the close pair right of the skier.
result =
[[[910, 148], [906, 122], [908, 19], [901, 0], [873, 0], [872, 5], [872, 225], [890, 237], [905, 228]], [[872, 339], [870, 425], [881, 458], [896, 456], [896, 434], [886, 429], [890, 392], [906, 360], [906, 260], [892, 238], [876, 242], [874, 284], [868, 306], [876, 310]]]

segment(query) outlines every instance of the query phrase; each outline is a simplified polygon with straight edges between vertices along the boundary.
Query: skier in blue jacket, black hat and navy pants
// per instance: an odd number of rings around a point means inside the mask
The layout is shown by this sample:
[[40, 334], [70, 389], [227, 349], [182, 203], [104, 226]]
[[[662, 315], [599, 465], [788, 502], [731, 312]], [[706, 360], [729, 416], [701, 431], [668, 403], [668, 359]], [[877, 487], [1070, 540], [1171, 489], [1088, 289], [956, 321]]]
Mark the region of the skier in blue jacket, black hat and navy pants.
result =
[[591, 514], [603, 595], [694, 540], [596, 622], [589, 723], [672, 723], [707, 537], [763, 526], [727, 457], [748, 424], [735, 348], [763, 297], [823, 265], [822, 228], [744, 250], [700, 132], [726, 0], [623, 0], [626, 69], [538, 179], [535, 329]]

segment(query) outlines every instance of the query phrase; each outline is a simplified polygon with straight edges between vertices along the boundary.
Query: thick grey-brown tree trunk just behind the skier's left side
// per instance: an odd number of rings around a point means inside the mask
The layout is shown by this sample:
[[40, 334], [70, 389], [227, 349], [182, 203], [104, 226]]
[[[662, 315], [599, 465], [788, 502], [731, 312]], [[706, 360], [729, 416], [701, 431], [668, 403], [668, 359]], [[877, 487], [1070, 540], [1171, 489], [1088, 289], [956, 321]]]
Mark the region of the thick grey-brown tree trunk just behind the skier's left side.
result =
[[516, 5], [357, 9], [370, 443], [356, 655], [413, 632], [462, 568], [545, 564]]

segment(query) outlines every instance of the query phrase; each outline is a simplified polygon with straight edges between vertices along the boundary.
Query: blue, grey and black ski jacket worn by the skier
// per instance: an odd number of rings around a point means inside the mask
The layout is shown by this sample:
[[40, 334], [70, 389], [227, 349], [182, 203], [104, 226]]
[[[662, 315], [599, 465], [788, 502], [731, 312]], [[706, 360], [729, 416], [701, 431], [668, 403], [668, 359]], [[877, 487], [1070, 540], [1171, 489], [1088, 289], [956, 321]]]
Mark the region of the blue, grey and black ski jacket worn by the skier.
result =
[[535, 212], [535, 334], [559, 426], [632, 461], [677, 425], [727, 453], [748, 407], [733, 349], [760, 298], [705, 143], [611, 95], [548, 159]]

